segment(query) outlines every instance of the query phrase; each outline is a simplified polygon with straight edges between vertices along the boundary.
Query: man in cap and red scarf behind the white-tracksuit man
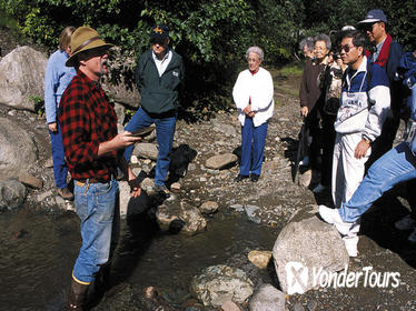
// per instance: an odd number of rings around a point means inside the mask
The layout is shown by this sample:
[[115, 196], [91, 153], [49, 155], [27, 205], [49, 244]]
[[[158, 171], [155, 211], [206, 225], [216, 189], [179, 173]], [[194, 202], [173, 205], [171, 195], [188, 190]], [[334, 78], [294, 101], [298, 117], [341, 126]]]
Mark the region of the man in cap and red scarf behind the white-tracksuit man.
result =
[[386, 153], [393, 147], [397, 129], [400, 122], [399, 113], [403, 102], [402, 84], [396, 77], [397, 67], [400, 62], [403, 50], [398, 42], [393, 40], [387, 33], [387, 18], [383, 10], [375, 9], [368, 11], [366, 18], [358, 22], [358, 28], [366, 31], [368, 40], [374, 46], [370, 61], [383, 67], [390, 84], [390, 118], [387, 118], [383, 126], [380, 137], [372, 146], [372, 156], [367, 162], [369, 167], [379, 157]]

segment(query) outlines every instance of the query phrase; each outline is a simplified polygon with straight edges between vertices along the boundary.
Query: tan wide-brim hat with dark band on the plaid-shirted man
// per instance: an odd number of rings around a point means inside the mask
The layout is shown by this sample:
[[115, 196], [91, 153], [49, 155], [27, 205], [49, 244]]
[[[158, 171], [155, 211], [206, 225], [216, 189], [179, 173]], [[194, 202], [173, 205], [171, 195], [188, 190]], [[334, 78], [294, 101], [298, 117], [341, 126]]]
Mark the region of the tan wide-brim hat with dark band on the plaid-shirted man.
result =
[[65, 63], [67, 67], [73, 67], [76, 56], [80, 52], [91, 50], [91, 49], [110, 49], [113, 44], [106, 43], [98, 32], [90, 27], [79, 27], [73, 31], [71, 36], [71, 56]]

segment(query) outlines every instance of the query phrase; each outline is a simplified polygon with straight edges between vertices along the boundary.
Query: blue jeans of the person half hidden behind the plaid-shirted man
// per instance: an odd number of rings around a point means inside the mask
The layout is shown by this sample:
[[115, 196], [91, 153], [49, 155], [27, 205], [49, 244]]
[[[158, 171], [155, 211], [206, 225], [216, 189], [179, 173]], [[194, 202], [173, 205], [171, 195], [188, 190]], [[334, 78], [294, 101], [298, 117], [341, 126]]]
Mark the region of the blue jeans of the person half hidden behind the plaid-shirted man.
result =
[[53, 161], [53, 177], [55, 183], [57, 188], [67, 188], [67, 174], [68, 174], [68, 167], [65, 162], [65, 151], [62, 144], [62, 134], [61, 134], [61, 127], [58, 123], [58, 131], [51, 132], [49, 131], [50, 136], [50, 144], [52, 150], [52, 161]]

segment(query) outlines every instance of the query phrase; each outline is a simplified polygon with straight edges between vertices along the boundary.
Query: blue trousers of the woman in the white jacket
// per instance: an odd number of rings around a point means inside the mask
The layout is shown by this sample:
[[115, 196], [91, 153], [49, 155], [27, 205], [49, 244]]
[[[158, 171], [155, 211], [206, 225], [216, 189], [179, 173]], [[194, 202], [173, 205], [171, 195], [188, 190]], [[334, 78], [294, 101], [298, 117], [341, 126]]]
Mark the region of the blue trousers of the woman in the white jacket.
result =
[[260, 174], [263, 158], [265, 154], [267, 127], [268, 122], [255, 127], [252, 123], [252, 118], [246, 117], [244, 127], [241, 127], [240, 174], [248, 175], [250, 172], [258, 175]]

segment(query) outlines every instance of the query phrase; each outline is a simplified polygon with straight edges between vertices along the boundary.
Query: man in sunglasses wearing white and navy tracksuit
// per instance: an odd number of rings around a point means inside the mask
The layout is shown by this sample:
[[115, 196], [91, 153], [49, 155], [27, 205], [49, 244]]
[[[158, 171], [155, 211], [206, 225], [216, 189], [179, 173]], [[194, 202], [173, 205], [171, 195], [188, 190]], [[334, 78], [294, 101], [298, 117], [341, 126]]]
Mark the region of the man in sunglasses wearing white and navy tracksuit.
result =
[[[370, 144], [380, 134], [389, 113], [390, 93], [386, 72], [367, 64], [364, 33], [343, 33], [340, 57], [348, 69], [343, 81], [340, 108], [334, 124], [336, 140], [333, 161], [333, 199], [338, 209], [347, 202], [363, 180]], [[359, 227], [357, 227], [359, 230]], [[349, 239], [351, 238], [351, 239]], [[356, 255], [358, 238], [344, 237], [350, 255]]]

